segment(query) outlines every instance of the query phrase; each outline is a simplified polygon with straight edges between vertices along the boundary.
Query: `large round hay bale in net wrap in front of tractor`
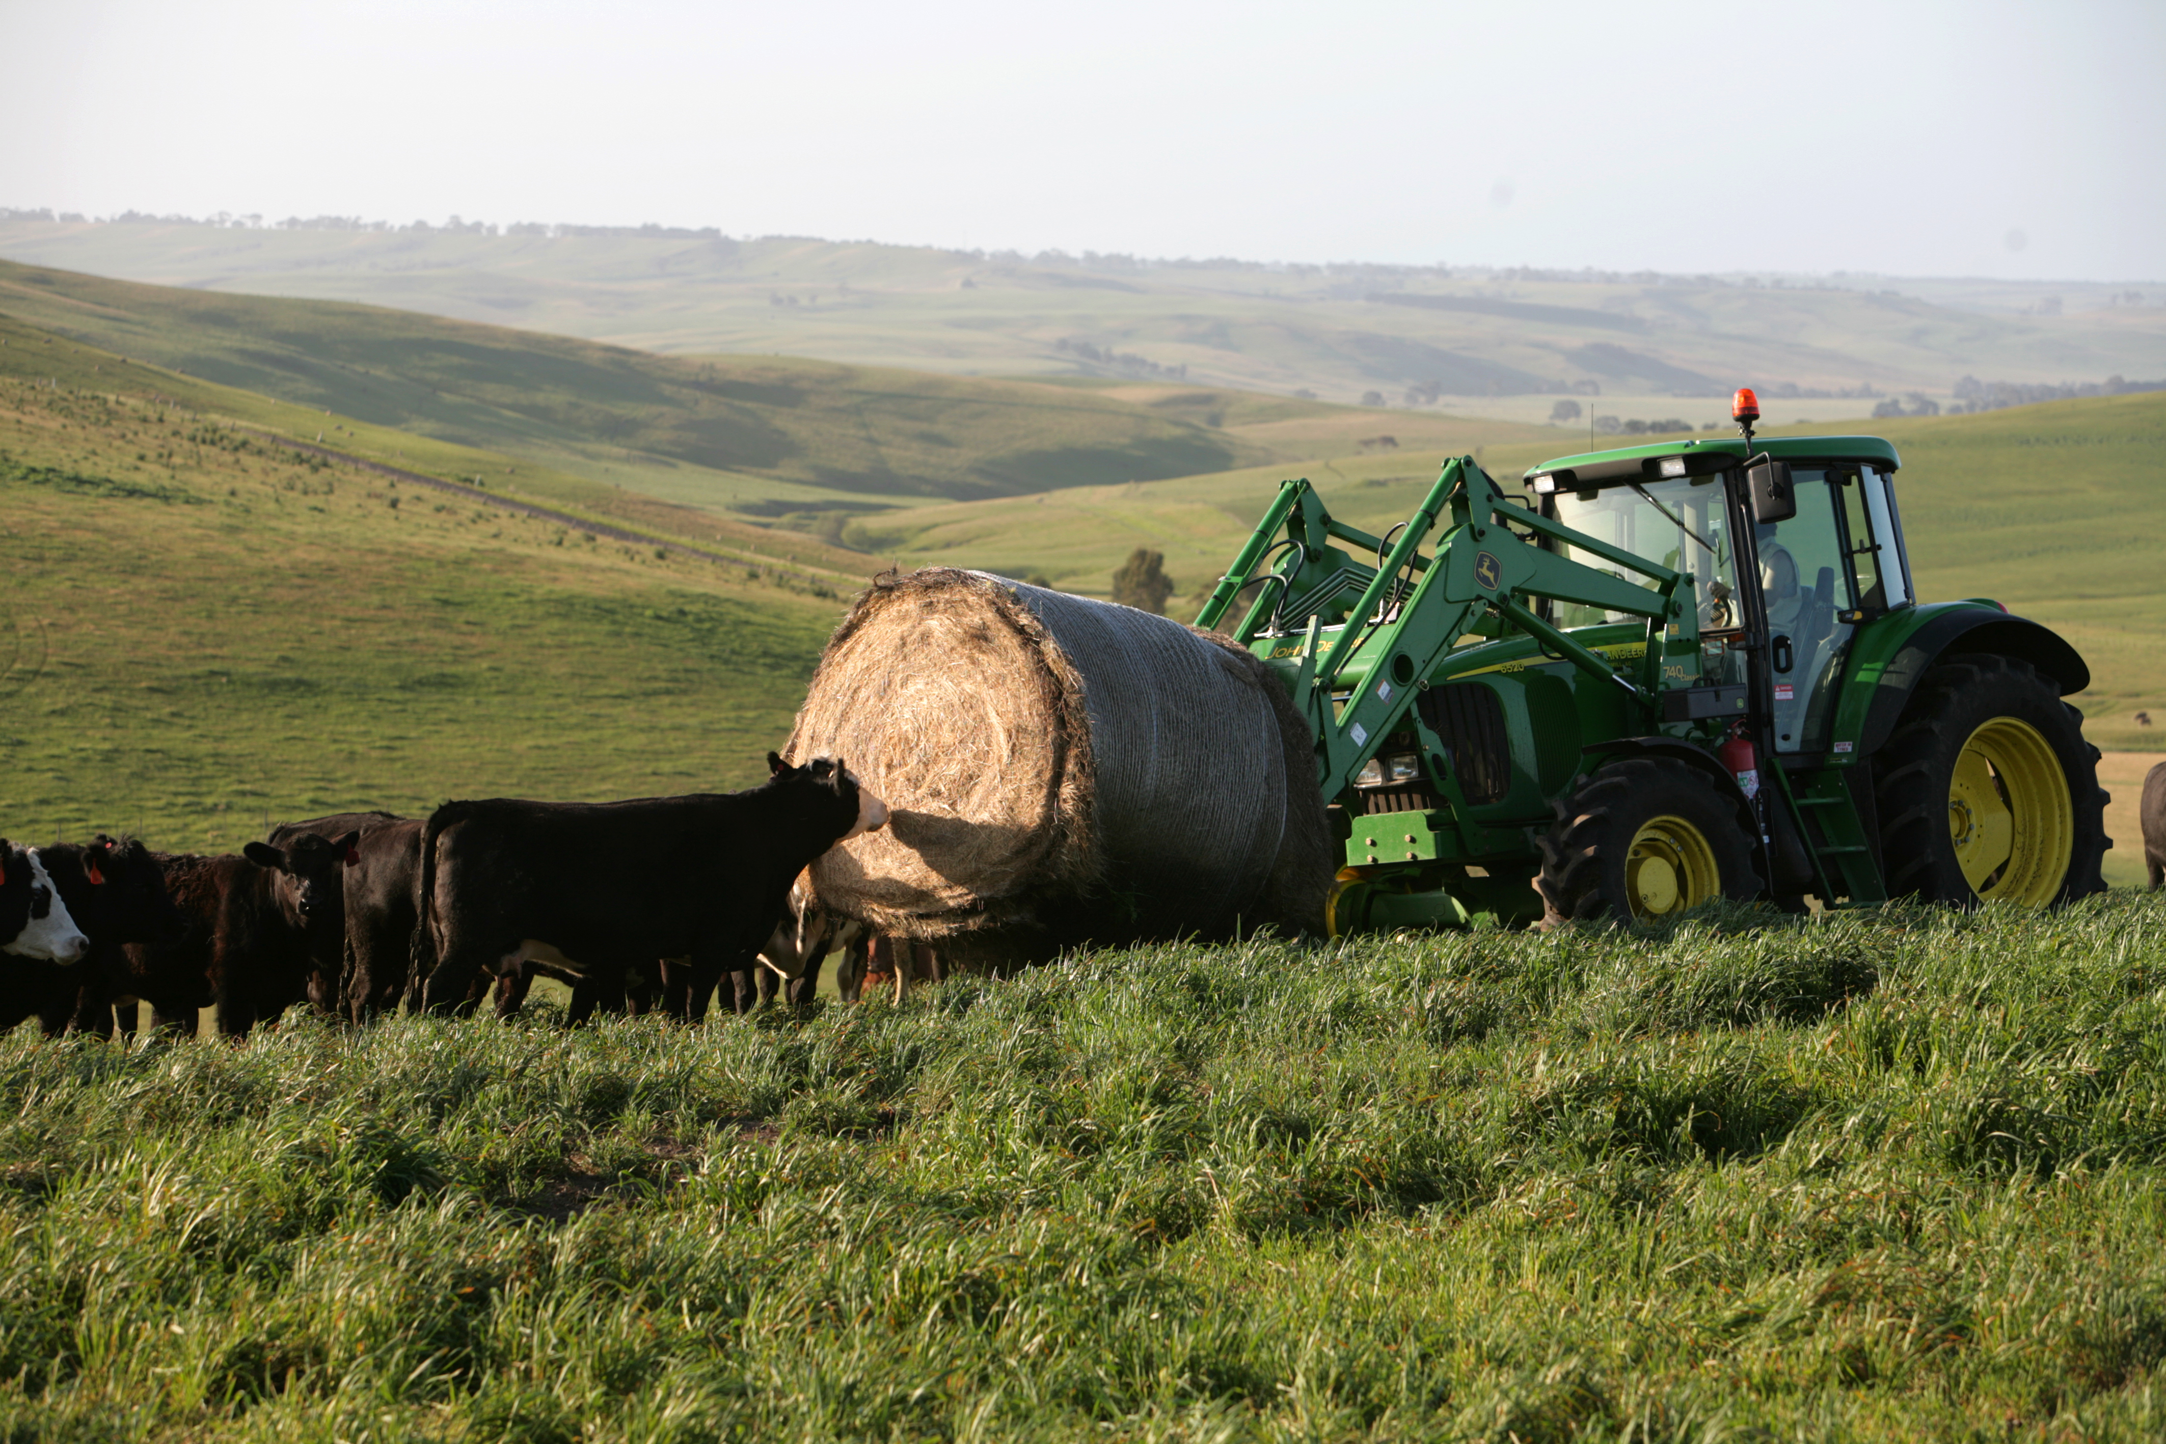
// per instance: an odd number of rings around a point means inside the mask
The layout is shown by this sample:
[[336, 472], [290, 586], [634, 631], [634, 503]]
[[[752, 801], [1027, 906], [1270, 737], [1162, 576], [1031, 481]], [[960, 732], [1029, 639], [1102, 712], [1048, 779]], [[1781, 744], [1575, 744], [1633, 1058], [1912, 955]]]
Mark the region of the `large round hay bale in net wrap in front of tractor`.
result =
[[1313, 929], [1332, 855], [1310, 751], [1226, 639], [949, 567], [858, 598], [788, 743], [890, 808], [812, 864], [821, 903], [921, 940]]

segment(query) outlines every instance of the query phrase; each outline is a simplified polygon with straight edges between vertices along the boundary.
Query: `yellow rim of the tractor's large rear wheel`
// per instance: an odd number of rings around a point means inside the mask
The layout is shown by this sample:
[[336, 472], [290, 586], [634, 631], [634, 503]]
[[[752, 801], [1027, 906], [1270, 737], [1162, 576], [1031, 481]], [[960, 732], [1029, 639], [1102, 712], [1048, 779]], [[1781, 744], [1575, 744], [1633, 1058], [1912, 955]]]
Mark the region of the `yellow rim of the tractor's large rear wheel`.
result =
[[1962, 881], [1982, 903], [2045, 907], [2060, 896], [2075, 851], [2075, 803], [2036, 727], [1995, 717], [1971, 734], [1947, 779], [1947, 833]]

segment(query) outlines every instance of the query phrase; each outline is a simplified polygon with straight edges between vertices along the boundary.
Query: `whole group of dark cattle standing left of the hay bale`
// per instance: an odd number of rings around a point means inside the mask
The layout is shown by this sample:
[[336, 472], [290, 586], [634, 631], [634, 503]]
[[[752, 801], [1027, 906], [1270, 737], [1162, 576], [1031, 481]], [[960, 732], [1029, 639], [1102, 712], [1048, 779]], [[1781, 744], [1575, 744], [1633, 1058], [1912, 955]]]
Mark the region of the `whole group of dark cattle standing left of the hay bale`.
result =
[[0, 1031], [106, 1037], [139, 1024], [247, 1035], [288, 1007], [368, 1022], [401, 1002], [513, 1013], [533, 979], [596, 1009], [697, 1022], [726, 987], [749, 1011], [786, 987], [903, 972], [895, 948], [823, 914], [801, 875], [888, 810], [843, 766], [791, 766], [728, 795], [622, 803], [461, 801], [427, 818], [342, 812], [286, 823], [240, 853], [136, 840], [24, 849], [0, 840]]

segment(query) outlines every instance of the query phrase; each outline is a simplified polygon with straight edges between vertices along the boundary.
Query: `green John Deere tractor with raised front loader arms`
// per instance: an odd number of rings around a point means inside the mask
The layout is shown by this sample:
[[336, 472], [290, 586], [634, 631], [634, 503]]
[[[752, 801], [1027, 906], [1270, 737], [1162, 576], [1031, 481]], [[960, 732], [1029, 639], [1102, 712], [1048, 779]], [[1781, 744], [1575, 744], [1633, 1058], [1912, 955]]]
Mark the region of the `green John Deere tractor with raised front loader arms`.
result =
[[1196, 623], [1308, 717], [1334, 933], [2103, 890], [2084, 658], [1917, 600], [1893, 446], [1737, 416], [1531, 496], [1460, 457], [1382, 537], [1280, 487]]

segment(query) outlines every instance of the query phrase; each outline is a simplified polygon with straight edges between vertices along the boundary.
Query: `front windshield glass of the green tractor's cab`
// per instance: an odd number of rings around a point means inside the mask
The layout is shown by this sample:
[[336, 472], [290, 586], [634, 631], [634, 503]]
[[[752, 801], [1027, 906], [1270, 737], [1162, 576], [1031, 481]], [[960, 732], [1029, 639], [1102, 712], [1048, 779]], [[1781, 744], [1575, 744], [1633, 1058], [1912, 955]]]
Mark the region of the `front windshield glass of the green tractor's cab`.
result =
[[[1737, 548], [1731, 537], [1731, 513], [1722, 485], [1713, 476], [1648, 481], [1601, 491], [1560, 491], [1557, 520], [1596, 541], [1622, 548], [1635, 556], [1687, 572], [1700, 604], [1700, 632], [1724, 632], [1744, 626], [1737, 611]], [[1579, 548], [1564, 554], [1599, 572], [1620, 576], [1618, 567]], [[1655, 582], [1627, 580], [1653, 589]], [[1599, 606], [1560, 606], [1557, 626], [1594, 626], [1599, 621], [1635, 621], [1624, 613]]]

